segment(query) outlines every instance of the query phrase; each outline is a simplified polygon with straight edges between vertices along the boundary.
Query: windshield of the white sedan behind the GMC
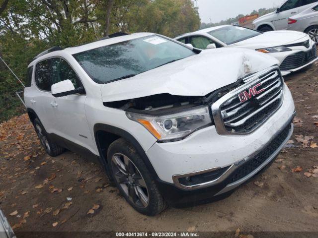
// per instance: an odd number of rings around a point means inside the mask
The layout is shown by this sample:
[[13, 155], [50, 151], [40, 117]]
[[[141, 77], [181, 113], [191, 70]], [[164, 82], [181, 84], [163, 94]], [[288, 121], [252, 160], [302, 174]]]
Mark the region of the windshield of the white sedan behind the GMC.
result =
[[225, 26], [213, 31], [208, 32], [211, 36], [217, 38], [218, 40], [224, 42], [227, 45], [237, 43], [255, 36], [258, 36], [262, 33], [247, 29], [239, 26]]

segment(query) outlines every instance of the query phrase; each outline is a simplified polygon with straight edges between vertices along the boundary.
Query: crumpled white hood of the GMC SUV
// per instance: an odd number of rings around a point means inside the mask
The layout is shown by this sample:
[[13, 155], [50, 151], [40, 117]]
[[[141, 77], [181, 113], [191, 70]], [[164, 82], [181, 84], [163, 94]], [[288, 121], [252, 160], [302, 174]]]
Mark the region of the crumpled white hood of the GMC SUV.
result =
[[134, 77], [101, 85], [103, 102], [156, 94], [205, 96], [278, 60], [246, 49], [211, 49]]

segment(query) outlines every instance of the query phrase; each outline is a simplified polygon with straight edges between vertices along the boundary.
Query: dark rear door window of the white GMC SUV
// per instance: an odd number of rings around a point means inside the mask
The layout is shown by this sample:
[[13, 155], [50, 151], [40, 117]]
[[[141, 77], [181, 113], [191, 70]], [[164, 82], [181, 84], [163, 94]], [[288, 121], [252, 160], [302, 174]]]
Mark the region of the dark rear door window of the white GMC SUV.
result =
[[39, 89], [51, 91], [50, 60], [43, 60], [36, 64], [35, 83]]

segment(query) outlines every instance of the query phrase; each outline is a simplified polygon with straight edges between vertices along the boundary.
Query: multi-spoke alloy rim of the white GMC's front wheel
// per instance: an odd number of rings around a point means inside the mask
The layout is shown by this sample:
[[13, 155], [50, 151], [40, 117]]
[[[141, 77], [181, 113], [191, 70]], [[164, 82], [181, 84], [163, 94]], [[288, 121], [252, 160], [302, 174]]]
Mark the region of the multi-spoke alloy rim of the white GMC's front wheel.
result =
[[114, 177], [129, 200], [138, 207], [147, 207], [149, 204], [148, 188], [135, 164], [120, 153], [114, 154], [111, 162]]

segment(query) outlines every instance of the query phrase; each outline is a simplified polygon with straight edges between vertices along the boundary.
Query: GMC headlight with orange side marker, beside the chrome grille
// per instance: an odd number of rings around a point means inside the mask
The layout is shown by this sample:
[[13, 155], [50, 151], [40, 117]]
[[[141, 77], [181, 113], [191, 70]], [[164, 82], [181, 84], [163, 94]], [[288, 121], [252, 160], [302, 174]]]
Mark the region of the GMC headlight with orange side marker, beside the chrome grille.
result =
[[126, 113], [127, 117], [145, 126], [159, 141], [180, 140], [194, 131], [211, 125], [208, 107], [198, 107], [180, 113], [149, 116]]

